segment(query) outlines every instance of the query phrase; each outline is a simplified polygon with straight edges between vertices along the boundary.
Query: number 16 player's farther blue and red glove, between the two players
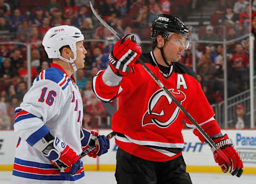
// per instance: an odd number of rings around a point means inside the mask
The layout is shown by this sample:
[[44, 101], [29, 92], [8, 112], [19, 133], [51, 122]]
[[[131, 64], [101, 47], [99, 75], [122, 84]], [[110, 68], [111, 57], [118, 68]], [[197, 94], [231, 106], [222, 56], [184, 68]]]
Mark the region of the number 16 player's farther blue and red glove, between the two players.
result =
[[106, 136], [99, 136], [98, 132], [81, 129], [81, 144], [83, 152], [87, 149], [94, 149], [88, 156], [96, 158], [108, 152], [109, 139]]

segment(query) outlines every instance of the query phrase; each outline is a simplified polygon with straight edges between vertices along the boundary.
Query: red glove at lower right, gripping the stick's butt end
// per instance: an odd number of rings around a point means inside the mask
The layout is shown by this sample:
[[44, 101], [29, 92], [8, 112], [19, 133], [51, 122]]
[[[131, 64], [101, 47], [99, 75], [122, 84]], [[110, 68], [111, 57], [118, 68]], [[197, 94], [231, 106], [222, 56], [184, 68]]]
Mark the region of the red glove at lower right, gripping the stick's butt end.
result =
[[223, 158], [216, 152], [216, 149], [212, 148], [212, 152], [214, 155], [214, 160], [216, 163], [219, 164], [221, 167], [221, 170], [223, 172], [228, 172], [229, 166], [230, 168], [230, 173], [232, 175], [236, 175], [237, 177], [240, 177], [243, 173], [243, 162], [241, 160], [241, 157], [238, 155], [236, 150], [233, 147], [233, 141], [228, 138], [228, 135], [225, 134], [222, 137], [219, 138], [213, 138], [212, 139], [216, 146], [222, 150], [223, 153], [227, 155], [229, 160], [231, 161], [232, 165], [228, 165]]

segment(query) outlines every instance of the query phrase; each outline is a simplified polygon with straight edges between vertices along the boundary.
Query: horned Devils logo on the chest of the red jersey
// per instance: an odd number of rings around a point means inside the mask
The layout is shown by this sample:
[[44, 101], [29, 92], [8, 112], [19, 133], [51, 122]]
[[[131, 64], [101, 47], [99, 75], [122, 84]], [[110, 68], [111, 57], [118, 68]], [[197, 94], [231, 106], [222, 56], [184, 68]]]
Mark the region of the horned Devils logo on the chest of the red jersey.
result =
[[[185, 101], [186, 95], [182, 91], [178, 89], [169, 89], [169, 91], [180, 104]], [[179, 112], [180, 108], [172, 102], [163, 89], [159, 89], [149, 99], [148, 110], [142, 118], [142, 127], [156, 124], [160, 128], [167, 128], [177, 119]]]

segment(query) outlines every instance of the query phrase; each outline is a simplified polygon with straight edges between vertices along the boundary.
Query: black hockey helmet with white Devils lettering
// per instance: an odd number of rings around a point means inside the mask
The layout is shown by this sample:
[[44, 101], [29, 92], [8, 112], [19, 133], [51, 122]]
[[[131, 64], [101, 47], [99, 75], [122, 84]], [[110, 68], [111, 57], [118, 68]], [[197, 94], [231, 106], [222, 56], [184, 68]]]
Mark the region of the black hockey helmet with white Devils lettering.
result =
[[172, 32], [188, 37], [188, 28], [183, 21], [168, 14], [157, 15], [151, 27], [150, 37], [156, 38], [161, 33], [167, 40]]

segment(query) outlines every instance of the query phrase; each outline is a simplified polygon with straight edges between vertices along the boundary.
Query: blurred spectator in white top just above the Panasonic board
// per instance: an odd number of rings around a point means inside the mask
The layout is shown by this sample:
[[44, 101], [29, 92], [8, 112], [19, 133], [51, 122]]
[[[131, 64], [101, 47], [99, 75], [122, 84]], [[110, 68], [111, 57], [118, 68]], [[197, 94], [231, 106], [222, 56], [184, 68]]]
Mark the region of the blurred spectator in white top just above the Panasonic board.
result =
[[233, 119], [233, 123], [230, 125], [230, 128], [249, 129], [251, 127], [250, 122], [250, 116], [245, 114], [244, 106], [241, 104], [237, 105], [236, 115]]

